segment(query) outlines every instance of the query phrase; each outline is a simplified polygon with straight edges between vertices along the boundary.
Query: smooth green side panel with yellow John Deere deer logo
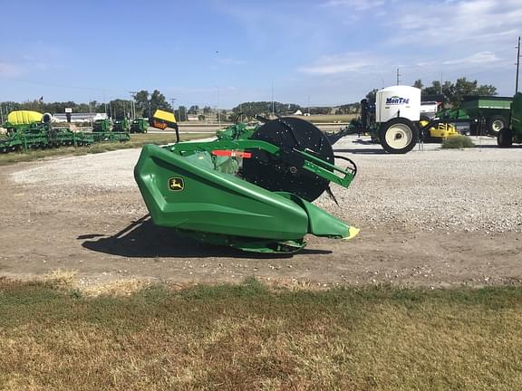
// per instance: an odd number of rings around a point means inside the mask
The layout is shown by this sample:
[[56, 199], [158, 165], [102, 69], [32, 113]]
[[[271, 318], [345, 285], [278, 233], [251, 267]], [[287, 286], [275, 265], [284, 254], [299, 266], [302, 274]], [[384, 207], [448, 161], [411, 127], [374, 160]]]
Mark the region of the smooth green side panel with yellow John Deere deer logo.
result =
[[160, 226], [274, 240], [308, 231], [308, 216], [291, 200], [157, 146], [142, 149], [134, 174]]

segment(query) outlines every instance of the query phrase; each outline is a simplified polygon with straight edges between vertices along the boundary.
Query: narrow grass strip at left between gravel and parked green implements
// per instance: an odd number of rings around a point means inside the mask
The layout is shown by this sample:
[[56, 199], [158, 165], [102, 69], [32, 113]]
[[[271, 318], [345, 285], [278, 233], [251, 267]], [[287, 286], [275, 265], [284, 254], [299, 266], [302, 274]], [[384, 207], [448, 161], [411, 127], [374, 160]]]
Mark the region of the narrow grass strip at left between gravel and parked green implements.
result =
[[[208, 133], [190, 133], [179, 135], [181, 141], [188, 141], [190, 139], [196, 138], [208, 138], [208, 136]], [[175, 139], [176, 136], [173, 134], [132, 134], [131, 140], [127, 142], [104, 142], [93, 144], [91, 147], [36, 149], [27, 153], [10, 152], [6, 154], [0, 154], [0, 166], [33, 161], [48, 157], [81, 156], [92, 153], [109, 152], [117, 149], [140, 148], [145, 144], [163, 145], [173, 143]]]

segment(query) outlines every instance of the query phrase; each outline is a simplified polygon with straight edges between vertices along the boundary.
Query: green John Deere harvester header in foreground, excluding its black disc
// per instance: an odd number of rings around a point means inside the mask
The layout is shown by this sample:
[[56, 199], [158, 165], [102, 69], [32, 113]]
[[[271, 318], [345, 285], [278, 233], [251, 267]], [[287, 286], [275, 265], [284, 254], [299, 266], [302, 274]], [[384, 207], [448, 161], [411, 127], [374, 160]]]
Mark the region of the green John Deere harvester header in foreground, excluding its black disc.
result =
[[[204, 243], [259, 253], [295, 253], [306, 244], [306, 234], [350, 239], [358, 233], [304, 196], [247, 181], [244, 160], [268, 157], [270, 167], [285, 167], [281, 175], [297, 176], [303, 187], [306, 178], [309, 187], [322, 186], [323, 181], [348, 187], [356, 174], [354, 165], [336, 167], [318, 156], [318, 148], [300, 143], [288, 148], [288, 138], [280, 138], [278, 146], [252, 138], [252, 129], [235, 127], [209, 142], [142, 149], [134, 176], [155, 224]], [[302, 190], [306, 195], [307, 189]]]

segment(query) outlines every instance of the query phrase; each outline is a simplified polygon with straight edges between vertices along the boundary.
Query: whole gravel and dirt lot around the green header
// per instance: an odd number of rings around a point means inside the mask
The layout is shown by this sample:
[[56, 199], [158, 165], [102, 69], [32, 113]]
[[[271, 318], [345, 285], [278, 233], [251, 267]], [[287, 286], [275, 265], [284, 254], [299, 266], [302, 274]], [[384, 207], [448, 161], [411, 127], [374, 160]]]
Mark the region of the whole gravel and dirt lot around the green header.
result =
[[[393, 156], [367, 138], [339, 140], [335, 153], [351, 157], [358, 176], [348, 189], [333, 186], [340, 206], [328, 196], [316, 204], [361, 234], [348, 244], [311, 238], [307, 252], [274, 259], [179, 240], [150, 222], [134, 228], [147, 213], [132, 176], [139, 150], [8, 167], [0, 177], [0, 274], [61, 268], [84, 283], [248, 275], [317, 284], [519, 283], [522, 148], [495, 148], [491, 138], [476, 143], [481, 147], [467, 150], [428, 144]], [[32, 240], [21, 240], [27, 236]]]

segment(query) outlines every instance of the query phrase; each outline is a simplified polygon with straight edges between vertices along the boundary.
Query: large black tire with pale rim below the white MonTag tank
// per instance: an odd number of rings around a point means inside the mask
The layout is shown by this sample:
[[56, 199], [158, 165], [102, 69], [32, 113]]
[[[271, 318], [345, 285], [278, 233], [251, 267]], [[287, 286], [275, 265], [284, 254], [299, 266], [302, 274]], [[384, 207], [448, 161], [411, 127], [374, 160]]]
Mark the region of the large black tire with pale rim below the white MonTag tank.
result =
[[419, 129], [410, 119], [396, 118], [381, 124], [379, 142], [391, 154], [410, 152], [419, 141]]

